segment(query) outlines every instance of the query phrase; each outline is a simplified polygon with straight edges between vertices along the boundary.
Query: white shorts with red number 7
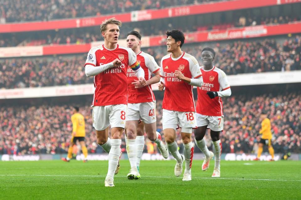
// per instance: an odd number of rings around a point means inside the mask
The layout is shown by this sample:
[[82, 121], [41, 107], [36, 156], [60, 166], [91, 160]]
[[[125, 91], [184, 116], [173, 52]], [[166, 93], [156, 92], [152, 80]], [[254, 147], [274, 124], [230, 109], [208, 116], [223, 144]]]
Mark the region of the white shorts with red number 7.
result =
[[206, 126], [213, 131], [222, 131], [224, 129], [224, 117], [208, 116], [196, 113], [197, 126]]

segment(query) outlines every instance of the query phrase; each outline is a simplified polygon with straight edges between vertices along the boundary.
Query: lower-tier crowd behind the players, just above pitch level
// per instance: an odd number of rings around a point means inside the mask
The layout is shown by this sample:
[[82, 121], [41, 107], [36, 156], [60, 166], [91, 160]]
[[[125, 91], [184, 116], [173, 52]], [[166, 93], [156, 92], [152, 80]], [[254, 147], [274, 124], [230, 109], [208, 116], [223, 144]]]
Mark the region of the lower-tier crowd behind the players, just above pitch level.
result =
[[[91, 97], [76, 104], [86, 119], [86, 143], [89, 153], [103, 153], [92, 128]], [[75, 104], [73, 104], [75, 105]], [[157, 99], [157, 131], [162, 134], [162, 101]], [[71, 105], [18, 106], [0, 108], [0, 154], [66, 153], [70, 144]], [[260, 113], [268, 110], [271, 119], [275, 153], [301, 153], [301, 93], [278, 96], [231, 96], [224, 99], [224, 131], [221, 133], [223, 153], [256, 153], [256, 137], [261, 128]], [[194, 136], [193, 136], [194, 137]], [[212, 149], [209, 132], [205, 136]], [[125, 152], [124, 136], [122, 151]], [[180, 129], [177, 143], [183, 150]], [[157, 153], [157, 148], [145, 135], [145, 152]], [[80, 149], [78, 149], [80, 150]], [[199, 153], [199, 149], [195, 148]]]

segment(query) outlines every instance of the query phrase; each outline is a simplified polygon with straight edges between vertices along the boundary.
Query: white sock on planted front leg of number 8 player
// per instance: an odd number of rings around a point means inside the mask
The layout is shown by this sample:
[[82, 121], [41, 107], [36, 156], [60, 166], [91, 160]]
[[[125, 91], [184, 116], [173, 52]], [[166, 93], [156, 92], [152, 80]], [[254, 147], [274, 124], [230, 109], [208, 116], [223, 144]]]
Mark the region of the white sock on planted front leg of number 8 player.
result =
[[109, 152], [109, 167], [108, 167], [108, 173], [106, 178], [114, 178], [114, 173], [116, 170], [116, 167], [118, 165], [118, 161], [121, 154], [121, 139], [111, 139], [111, 150]]

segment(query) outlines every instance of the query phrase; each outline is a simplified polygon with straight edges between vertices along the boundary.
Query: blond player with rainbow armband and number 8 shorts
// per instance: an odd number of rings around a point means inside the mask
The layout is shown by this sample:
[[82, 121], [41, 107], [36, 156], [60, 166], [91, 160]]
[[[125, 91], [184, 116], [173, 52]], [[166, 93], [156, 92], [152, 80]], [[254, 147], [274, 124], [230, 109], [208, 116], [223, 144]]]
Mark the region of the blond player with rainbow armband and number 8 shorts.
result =
[[[106, 187], [114, 187], [114, 173], [121, 154], [121, 136], [127, 111], [127, 69], [132, 68], [138, 81], [145, 85], [144, 70], [140, 68], [136, 54], [127, 47], [117, 44], [121, 22], [115, 18], [106, 19], [100, 26], [104, 44], [93, 47], [85, 63], [87, 77], [94, 76], [93, 127], [98, 144], [108, 156]], [[108, 127], [111, 125], [111, 139]]]

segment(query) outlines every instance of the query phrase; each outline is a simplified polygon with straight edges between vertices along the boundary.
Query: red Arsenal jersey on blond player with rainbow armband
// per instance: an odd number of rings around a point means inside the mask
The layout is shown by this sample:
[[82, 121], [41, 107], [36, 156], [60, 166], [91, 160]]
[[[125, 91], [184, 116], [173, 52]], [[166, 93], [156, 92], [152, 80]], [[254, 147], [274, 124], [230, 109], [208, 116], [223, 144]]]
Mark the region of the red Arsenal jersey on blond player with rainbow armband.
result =
[[107, 49], [104, 45], [92, 48], [87, 57], [86, 65], [100, 66], [118, 58], [122, 65], [110, 68], [94, 76], [94, 96], [92, 106], [106, 106], [127, 104], [127, 77], [128, 66], [139, 68], [136, 54], [132, 49], [117, 44], [115, 49]]

